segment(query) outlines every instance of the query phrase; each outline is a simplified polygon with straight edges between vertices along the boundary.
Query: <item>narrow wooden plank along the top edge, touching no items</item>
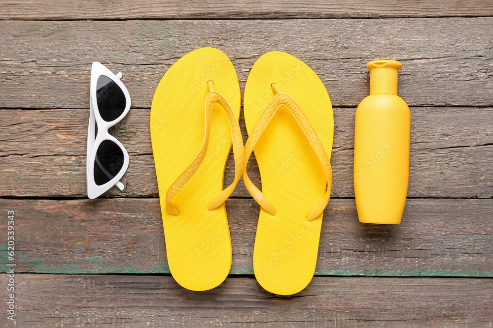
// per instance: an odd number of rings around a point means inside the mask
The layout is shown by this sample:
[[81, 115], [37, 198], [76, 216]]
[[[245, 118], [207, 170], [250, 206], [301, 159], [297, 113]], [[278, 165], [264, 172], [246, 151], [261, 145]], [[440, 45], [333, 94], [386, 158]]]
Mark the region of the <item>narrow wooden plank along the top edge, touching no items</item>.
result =
[[0, 19], [252, 19], [493, 16], [488, 0], [53, 1], [4, 0]]

